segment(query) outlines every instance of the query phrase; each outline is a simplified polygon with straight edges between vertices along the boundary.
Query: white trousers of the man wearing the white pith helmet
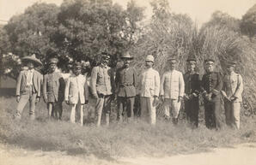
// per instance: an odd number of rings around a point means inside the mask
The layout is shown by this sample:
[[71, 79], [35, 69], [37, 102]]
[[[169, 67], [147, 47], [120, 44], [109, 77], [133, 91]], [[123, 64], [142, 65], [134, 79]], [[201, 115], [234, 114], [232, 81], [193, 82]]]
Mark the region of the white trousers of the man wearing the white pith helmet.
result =
[[140, 97], [141, 103], [141, 117], [143, 120], [148, 121], [151, 125], [155, 125], [155, 106], [153, 105], [154, 97]]

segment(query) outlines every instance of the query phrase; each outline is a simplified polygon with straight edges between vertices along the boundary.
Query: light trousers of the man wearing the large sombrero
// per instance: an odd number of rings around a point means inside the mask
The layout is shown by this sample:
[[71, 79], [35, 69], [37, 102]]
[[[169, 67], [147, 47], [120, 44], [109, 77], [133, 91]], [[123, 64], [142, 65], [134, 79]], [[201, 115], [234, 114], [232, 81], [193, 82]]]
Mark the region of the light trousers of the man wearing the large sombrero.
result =
[[35, 118], [34, 109], [36, 104], [37, 93], [33, 93], [32, 87], [33, 87], [32, 85], [27, 86], [25, 89], [25, 92], [21, 94], [20, 101], [17, 105], [15, 118], [21, 119], [22, 111], [26, 106], [27, 102], [29, 101], [29, 116], [31, 120], [34, 120]]

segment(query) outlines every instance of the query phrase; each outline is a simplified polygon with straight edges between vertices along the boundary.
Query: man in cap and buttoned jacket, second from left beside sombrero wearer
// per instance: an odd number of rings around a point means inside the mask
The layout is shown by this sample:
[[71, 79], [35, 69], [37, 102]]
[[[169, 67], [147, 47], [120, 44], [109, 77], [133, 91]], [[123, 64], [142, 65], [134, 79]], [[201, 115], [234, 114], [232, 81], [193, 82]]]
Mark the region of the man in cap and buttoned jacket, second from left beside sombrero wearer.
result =
[[47, 103], [48, 116], [61, 120], [65, 82], [57, 68], [58, 58], [49, 61], [49, 73], [44, 76], [43, 97]]

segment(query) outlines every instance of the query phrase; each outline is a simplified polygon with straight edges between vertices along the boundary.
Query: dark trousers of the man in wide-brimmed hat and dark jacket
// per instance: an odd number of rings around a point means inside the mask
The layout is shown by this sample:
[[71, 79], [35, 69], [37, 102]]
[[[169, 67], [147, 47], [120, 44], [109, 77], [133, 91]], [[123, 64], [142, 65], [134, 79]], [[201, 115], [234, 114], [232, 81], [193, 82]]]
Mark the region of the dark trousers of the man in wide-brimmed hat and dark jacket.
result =
[[135, 97], [118, 97], [118, 120], [122, 121], [122, 117], [133, 118], [133, 106]]

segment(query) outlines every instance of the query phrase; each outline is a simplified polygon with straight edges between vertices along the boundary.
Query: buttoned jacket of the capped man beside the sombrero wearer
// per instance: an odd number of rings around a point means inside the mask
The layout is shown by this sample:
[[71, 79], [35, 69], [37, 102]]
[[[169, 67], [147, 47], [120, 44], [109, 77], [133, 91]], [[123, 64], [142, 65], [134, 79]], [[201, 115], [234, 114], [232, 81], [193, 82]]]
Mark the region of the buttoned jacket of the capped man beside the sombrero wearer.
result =
[[65, 82], [60, 73], [46, 74], [43, 83], [43, 97], [46, 102], [64, 101]]

